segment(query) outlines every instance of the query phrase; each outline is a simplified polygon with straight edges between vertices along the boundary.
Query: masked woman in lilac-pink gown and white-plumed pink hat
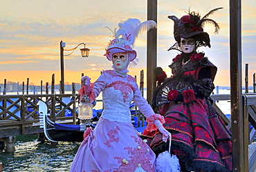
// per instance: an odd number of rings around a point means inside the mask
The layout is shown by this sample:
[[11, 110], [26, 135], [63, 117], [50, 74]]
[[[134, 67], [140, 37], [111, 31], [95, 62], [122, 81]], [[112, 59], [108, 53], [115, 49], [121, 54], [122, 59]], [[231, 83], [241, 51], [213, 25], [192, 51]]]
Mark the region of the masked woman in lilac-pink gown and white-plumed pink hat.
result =
[[[163, 128], [163, 116], [155, 114], [141, 95], [134, 77], [127, 67], [136, 58], [131, 45], [142, 28], [156, 27], [154, 21], [140, 23], [138, 19], [128, 19], [119, 23], [113, 39], [104, 56], [113, 62], [112, 70], [105, 70], [88, 88], [88, 76], [82, 78], [84, 84], [80, 94], [88, 94], [91, 101], [102, 92], [104, 110], [97, 126], [86, 130], [86, 138], [80, 145], [70, 171], [110, 172], [110, 171], [155, 171], [155, 154], [143, 141], [131, 124], [129, 105], [134, 101], [149, 125], [147, 130], [159, 129], [164, 139], [168, 132]], [[121, 37], [120, 37], [121, 36]], [[157, 127], [157, 128], [156, 128]]]

